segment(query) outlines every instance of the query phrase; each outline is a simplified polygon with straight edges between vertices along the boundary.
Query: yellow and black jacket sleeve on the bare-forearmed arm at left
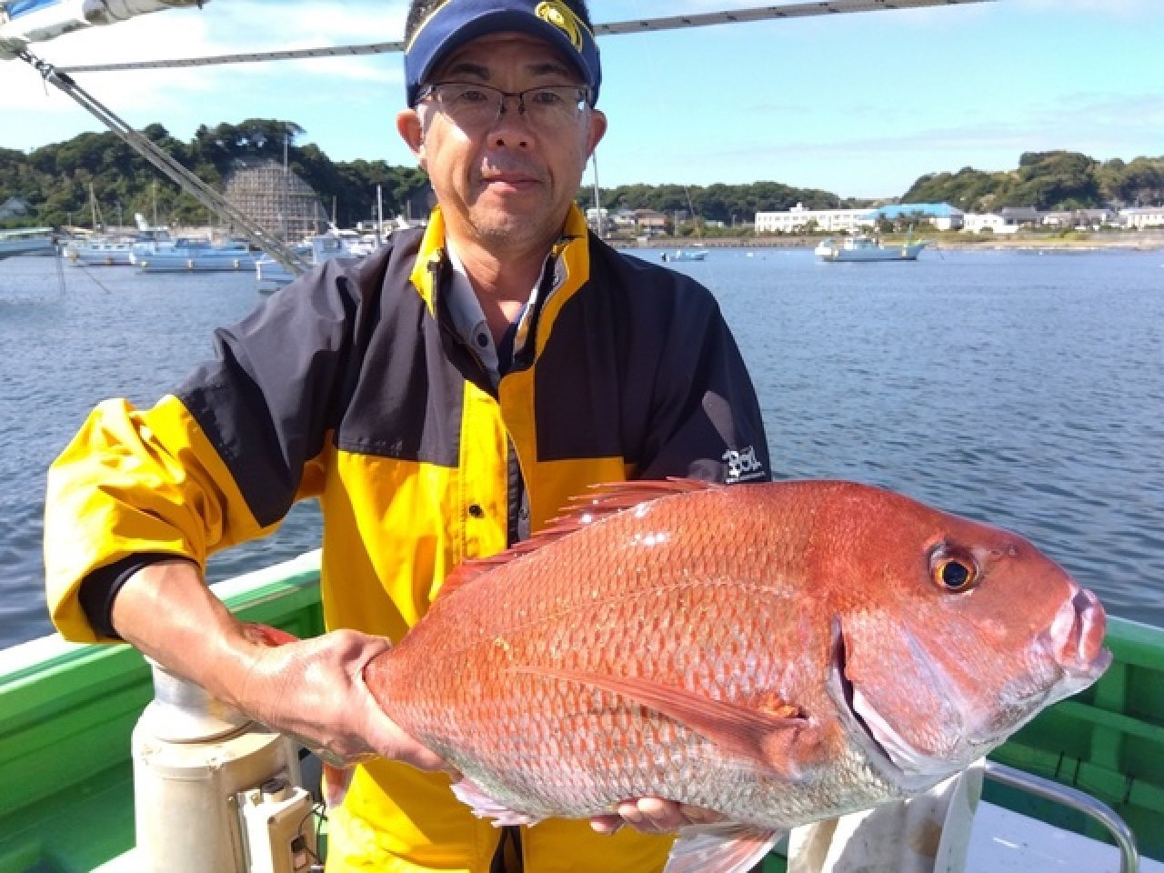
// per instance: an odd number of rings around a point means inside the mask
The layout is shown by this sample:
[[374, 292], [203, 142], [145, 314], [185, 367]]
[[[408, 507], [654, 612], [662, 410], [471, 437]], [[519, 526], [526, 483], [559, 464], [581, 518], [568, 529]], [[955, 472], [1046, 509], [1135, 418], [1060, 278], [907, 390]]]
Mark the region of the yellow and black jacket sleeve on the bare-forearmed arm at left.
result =
[[310, 274], [219, 331], [215, 360], [152, 409], [119, 399], [90, 414], [48, 476], [47, 598], [66, 639], [107, 638], [81, 601], [102, 569], [140, 555], [205, 567], [318, 494], [313, 460], [342, 385], [350, 285], [338, 267]]

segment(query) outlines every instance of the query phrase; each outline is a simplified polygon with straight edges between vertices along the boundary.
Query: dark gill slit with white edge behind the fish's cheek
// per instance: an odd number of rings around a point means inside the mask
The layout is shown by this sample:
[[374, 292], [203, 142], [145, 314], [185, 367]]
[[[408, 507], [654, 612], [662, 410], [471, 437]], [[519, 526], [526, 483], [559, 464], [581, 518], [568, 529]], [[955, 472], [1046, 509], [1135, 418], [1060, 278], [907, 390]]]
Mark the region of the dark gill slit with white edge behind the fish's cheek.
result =
[[847, 653], [840, 619], [832, 619], [828, 687], [846, 732], [882, 779], [907, 792], [924, 790], [950, 775], [947, 762], [918, 754], [845, 675]]

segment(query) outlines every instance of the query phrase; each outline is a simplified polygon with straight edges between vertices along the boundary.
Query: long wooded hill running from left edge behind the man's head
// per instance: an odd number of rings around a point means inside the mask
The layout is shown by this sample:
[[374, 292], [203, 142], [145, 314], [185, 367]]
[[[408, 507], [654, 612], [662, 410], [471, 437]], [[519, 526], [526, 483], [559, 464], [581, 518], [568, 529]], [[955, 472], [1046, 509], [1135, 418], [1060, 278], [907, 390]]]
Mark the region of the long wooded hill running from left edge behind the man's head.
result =
[[[285, 144], [290, 169], [319, 193], [326, 208], [334, 203], [340, 226], [374, 217], [377, 185], [389, 217], [403, 213], [404, 204], [414, 201], [427, 187], [427, 178], [414, 166], [389, 166], [383, 161], [333, 162], [313, 143], [297, 146], [303, 129], [289, 121], [248, 119], [240, 125], [204, 126], [190, 142], [173, 139], [161, 125], [150, 125], [141, 133], [218, 190], [235, 161], [267, 157], [282, 162]], [[786, 210], [796, 203], [810, 208], [867, 205], [775, 182], [690, 189], [625, 185], [602, 191], [601, 198], [611, 210], [651, 208], [674, 214], [688, 212], [688, 194], [704, 221], [724, 223], [744, 223], [757, 211]], [[159, 223], [208, 220], [205, 207], [112, 133], [80, 134], [28, 155], [0, 149], [0, 203], [8, 197], [28, 200], [36, 210], [36, 220], [44, 225], [90, 226], [94, 203], [99, 221], [106, 225], [130, 223], [135, 212], [149, 220], [156, 214]], [[579, 192], [579, 203], [592, 203], [589, 187]]]

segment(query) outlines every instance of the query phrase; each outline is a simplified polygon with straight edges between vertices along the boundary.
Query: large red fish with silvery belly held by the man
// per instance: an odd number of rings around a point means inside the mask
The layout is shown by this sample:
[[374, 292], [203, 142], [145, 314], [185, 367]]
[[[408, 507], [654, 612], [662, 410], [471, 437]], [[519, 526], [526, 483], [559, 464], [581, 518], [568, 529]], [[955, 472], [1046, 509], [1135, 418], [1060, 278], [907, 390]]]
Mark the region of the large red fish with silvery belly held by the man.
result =
[[506, 823], [656, 795], [723, 812], [668, 872], [923, 790], [1110, 661], [1027, 540], [846, 482], [613, 487], [459, 569], [365, 670]]

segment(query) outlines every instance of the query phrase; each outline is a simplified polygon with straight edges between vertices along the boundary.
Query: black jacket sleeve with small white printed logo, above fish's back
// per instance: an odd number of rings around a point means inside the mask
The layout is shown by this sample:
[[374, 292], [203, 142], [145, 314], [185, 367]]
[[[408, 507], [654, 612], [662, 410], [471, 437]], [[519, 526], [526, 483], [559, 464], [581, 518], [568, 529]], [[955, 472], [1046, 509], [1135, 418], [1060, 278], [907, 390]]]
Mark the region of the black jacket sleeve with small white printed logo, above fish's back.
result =
[[744, 359], [710, 292], [684, 285], [655, 370], [637, 477], [766, 482], [767, 438]]

